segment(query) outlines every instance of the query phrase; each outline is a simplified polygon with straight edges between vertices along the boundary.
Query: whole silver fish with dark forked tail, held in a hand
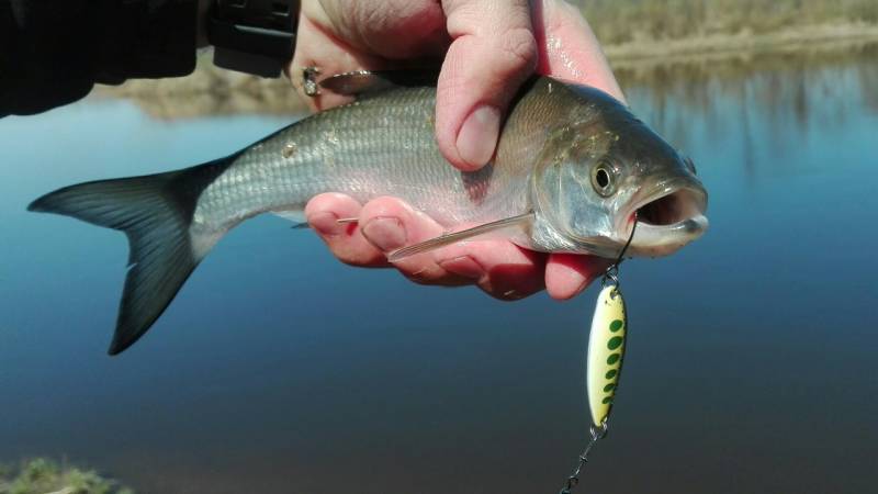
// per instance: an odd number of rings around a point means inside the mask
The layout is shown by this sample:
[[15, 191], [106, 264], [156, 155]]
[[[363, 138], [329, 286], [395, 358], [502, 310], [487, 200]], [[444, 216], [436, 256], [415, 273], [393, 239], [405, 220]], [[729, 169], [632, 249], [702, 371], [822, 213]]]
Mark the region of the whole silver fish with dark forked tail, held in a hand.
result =
[[436, 82], [405, 74], [334, 76], [356, 94], [212, 161], [156, 175], [79, 183], [29, 210], [125, 233], [128, 268], [109, 353], [137, 341], [225, 234], [274, 213], [305, 223], [307, 201], [341, 192], [401, 198], [450, 233], [391, 252], [391, 261], [476, 236], [543, 252], [669, 255], [707, 228], [707, 191], [691, 160], [631, 111], [590, 87], [533, 77], [510, 104], [496, 153], [464, 172], [435, 137]]

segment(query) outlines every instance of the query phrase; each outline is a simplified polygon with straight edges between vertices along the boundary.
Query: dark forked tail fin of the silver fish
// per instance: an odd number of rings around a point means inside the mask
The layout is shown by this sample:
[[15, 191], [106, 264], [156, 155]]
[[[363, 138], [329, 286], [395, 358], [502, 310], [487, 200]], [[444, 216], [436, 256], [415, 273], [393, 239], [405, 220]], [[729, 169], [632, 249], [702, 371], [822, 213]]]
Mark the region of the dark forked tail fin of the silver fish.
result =
[[27, 206], [119, 229], [128, 237], [128, 271], [110, 355], [122, 352], [149, 329], [225, 233], [196, 232], [191, 226], [198, 197], [232, 158], [65, 187]]

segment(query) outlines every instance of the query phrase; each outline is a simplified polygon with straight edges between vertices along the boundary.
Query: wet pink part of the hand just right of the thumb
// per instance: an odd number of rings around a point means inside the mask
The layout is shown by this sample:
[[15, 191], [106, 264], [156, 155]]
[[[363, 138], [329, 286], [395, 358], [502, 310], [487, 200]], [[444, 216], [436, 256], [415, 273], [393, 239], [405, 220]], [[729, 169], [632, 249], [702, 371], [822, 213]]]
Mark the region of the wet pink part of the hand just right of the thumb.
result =
[[595, 33], [576, 7], [561, 0], [534, 1], [533, 32], [539, 74], [593, 86], [624, 102]]

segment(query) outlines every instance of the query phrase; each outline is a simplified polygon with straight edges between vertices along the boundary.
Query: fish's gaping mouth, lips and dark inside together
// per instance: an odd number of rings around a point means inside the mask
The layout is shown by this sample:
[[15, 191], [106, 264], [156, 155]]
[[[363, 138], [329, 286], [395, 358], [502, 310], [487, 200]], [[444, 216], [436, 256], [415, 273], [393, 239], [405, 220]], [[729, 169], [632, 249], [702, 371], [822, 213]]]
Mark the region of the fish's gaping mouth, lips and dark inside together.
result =
[[700, 237], [708, 227], [707, 192], [696, 179], [677, 178], [641, 190], [620, 218], [619, 232], [631, 236], [632, 256], [667, 256]]

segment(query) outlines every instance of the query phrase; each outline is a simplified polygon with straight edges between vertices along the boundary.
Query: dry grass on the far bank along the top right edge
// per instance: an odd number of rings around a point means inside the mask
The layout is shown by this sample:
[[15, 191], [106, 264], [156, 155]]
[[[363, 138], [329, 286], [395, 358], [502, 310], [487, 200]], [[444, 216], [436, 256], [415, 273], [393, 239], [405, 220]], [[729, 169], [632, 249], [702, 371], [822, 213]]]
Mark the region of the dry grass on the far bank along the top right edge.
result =
[[604, 44], [878, 23], [876, 0], [577, 0]]

